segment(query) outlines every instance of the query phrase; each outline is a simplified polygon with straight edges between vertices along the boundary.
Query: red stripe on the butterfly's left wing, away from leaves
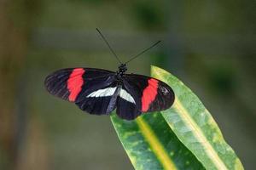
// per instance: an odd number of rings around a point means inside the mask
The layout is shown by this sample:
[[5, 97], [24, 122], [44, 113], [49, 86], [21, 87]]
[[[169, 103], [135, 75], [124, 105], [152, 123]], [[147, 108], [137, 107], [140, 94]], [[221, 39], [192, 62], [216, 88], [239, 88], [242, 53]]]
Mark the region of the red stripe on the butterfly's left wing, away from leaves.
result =
[[84, 72], [85, 71], [82, 68], [74, 69], [67, 79], [67, 89], [70, 93], [68, 96], [69, 101], [75, 101], [81, 92], [82, 86], [84, 84]]

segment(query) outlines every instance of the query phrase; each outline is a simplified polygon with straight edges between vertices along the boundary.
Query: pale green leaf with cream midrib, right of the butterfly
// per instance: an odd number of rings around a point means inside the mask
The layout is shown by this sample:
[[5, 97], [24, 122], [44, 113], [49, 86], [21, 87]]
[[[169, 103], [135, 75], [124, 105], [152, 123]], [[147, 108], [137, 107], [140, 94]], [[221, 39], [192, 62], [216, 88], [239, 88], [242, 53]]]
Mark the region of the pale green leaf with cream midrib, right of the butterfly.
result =
[[173, 88], [175, 102], [170, 109], [161, 111], [162, 116], [203, 166], [207, 169], [243, 169], [200, 99], [169, 72], [152, 66], [151, 74]]

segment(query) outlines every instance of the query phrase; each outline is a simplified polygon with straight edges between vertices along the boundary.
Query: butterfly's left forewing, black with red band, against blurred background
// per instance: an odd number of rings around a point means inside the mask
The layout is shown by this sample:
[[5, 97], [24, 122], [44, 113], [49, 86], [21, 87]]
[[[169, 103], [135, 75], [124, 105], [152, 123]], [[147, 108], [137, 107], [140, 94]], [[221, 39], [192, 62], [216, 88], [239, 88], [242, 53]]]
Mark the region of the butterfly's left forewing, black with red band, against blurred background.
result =
[[68, 68], [50, 74], [44, 84], [50, 94], [76, 102], [80, 99], [80, 94], [108, 86], [112, 75], [113, 71], [102, 69]]

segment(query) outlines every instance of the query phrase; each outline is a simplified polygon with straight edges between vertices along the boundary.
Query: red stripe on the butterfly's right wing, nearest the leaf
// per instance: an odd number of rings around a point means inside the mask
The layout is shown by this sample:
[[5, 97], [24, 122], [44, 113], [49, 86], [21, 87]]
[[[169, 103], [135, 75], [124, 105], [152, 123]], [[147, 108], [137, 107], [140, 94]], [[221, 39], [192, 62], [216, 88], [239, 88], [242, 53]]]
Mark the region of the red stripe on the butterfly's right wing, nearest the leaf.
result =
[[149, 105], [157, 95], [158, 81], [154, 78], [148, 79], [148, 86], [143, 90], [142, 111], [148, 111]]

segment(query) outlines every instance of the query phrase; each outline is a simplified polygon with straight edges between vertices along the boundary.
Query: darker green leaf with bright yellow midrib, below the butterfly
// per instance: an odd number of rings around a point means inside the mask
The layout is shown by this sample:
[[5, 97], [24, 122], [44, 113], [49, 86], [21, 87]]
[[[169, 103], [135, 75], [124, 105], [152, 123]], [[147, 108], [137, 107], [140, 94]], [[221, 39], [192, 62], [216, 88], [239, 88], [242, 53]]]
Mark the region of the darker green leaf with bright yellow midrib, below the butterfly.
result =
[[134, 121], [112, 114], [111, 120], [135, 169], [204, 169], [160, 112], [144, 114]]

